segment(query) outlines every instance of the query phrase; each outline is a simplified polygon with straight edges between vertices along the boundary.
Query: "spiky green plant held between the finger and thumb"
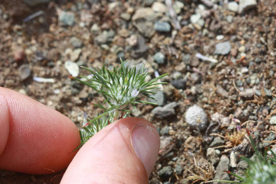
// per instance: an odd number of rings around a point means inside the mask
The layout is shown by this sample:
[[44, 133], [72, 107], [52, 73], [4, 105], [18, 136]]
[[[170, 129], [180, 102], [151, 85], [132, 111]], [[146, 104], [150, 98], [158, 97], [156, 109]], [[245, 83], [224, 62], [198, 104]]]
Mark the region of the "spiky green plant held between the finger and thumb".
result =
[[155, 103], [141, 100], [141, 97], [145, 96], [155, 100], [152, 97], [152, 94], [155, 94], [152, 89], [159, 88], [156, 85], [166, 84], [166, 82], [159, 82], [159, 79], [168, 74], [161, 75], [147, 82], [146, 76], [148, 72], [145, 70], [144, 65], [141, 68], [138, 67], [127, 66], [123, 61], [121, 61], [120, 66], [113, 67], [113, 70], [108, 70], [105, 66], [99, 70], [95, 68], [90, 70], [81, 66], [81, 68], [91, 73], [90, 77], [78, 79], [70, 76], [72, 79], [93, 88], [105, 99], [102, 104], [93, 104], [103, 109], [104, 112], [102, 114], [98, 114], [93, 119], [89, 119], [85, 114], [83, 127], [80, 130], [81, 146], [110, 122], [127, 117], [132, 112], [132, 108], [135, 108], [135, 105], [139, 103], [156, 105]]

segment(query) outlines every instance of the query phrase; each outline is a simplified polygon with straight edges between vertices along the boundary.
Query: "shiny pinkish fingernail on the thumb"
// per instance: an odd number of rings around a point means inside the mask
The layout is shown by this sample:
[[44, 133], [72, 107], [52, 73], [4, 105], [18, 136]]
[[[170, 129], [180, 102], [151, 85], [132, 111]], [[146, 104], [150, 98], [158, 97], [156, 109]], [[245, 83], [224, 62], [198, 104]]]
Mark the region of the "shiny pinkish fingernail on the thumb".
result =
[[150, 126], [136, 125], [132, 129], [131, 144], [149, 176], [158, 156], [160, 146], [158, 132]]

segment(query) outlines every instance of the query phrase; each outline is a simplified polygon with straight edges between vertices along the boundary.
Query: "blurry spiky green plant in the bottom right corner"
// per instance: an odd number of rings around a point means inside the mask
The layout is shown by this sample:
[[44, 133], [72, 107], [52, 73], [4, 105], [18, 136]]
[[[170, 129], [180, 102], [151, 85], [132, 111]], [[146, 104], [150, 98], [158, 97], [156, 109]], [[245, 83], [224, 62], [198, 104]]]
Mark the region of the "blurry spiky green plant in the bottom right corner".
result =
[[[251, 160], [244, 156], [240, 156], [248, 164], [248, 169], [243, 176], [239, 176], [233, 172], [225, 171], [237, 178], [238, 181], [230, 180], [212, 180], [209, 182], [224, 182], [224, 183], [244, 183], [244, 184], [276, 184], [276, 154], [270, 149], [266, 148], [265, 153], [261, 154], [252, 139], [249, 130], [247, 130], [250, 143], [254, 149], [256, 160]], [[270, 151], [272, 156], [267, 155], [267, 150]]]

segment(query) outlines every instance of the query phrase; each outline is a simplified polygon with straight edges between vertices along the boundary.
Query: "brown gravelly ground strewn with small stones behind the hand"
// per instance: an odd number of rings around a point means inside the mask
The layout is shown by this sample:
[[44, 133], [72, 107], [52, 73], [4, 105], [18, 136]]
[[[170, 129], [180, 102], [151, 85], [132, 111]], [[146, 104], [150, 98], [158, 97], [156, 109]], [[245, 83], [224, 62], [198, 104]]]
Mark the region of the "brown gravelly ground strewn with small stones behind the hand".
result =
[[[200, 183], [242, 173], [238, 155], [276, 150], [276, 2], [273, 0], [2, 0], [0, 86], [26, 94], [78, 126], [102, 98], [68, 78], [78, 65], [143, 62], [148, 79], [169, 73], [151, 121], [161, 146], [150, 183]], [[81, 107], [81, 108], [79, 108]], [[0, 183], [59, 183], [0, 171]]]

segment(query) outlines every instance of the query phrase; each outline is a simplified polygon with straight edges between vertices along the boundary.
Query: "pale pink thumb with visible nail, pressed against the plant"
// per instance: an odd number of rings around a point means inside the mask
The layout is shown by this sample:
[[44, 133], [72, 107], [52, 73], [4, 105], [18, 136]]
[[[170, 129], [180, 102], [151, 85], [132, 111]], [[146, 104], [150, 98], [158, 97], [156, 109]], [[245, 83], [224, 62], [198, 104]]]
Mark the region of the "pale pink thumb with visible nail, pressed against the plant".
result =
[[113, 122], [79, 150], [61, 183], [148, 183], [159, 134], [141, 118]]

